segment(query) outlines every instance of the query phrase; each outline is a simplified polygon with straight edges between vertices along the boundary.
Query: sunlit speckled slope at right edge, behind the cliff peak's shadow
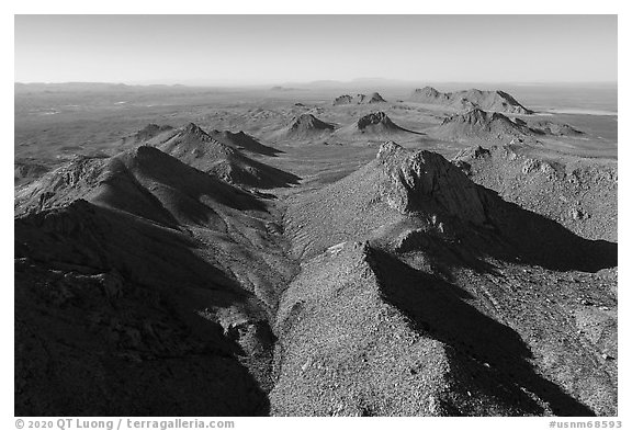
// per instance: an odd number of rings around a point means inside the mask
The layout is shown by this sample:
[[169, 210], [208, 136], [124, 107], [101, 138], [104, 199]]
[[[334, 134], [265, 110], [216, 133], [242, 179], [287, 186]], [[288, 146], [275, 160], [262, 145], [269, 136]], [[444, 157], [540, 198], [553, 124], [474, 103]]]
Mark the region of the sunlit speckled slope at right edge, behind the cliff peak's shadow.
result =
[[466, 149], [454, 157], [470, 178], [506, 201], [590, 239], [617, 240], [618, 169], [534, 158], [521, 146]]

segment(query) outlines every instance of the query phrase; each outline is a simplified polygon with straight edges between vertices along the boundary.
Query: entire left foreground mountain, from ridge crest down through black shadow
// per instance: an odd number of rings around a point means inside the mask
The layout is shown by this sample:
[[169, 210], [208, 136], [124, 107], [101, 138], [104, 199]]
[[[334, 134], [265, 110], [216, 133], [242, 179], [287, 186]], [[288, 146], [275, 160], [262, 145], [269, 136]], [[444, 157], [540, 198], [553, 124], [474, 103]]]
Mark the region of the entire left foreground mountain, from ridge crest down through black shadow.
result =
[[294, 269], [262, 201], [145, 146], [22, 193], [16, 411], [268, 412], [269, 319]]

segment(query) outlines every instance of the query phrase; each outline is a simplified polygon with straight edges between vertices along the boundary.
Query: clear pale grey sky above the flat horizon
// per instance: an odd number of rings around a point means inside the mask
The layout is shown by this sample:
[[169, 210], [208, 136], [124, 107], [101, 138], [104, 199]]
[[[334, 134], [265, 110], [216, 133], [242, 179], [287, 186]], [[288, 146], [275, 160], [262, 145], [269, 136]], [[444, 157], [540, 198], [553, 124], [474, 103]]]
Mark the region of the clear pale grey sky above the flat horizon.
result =
[[15, 81], [617, 81], [616, 15], [16, 15]]

